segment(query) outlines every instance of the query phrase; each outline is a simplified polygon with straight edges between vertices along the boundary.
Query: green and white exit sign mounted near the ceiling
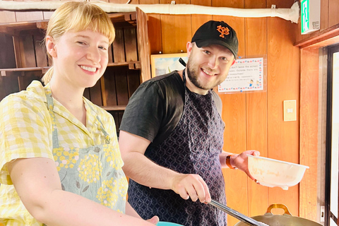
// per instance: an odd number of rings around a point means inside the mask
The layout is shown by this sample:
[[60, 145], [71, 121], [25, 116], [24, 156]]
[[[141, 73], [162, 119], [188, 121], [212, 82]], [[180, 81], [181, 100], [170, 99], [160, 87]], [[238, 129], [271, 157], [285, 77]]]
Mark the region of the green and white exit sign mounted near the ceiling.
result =
[[301, 28], [302, 35], [309, 34], [320, 29], [320, 1], [302, 0], [301, 8]]

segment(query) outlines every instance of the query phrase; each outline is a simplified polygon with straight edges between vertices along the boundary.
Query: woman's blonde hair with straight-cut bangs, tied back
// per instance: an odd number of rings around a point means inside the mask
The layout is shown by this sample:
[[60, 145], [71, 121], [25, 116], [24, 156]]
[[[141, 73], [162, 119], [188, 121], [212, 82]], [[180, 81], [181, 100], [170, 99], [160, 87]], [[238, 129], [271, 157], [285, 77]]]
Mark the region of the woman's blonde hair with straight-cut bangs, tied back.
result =
[[[112, 44], [115, 38], [115, 30], [112, 21], [107, 13], [99, 6], [84, 1], [69, 1], [57, 8], [49, 19], [46, 37], [51, 36], [55, 41], [59, 40], [61, 35], [71, 30], [78, 32], [90, 29], [100, 32], [109, 39]], [[46, 39], [45, 37], [45, 39]], [[48, 52], [47, 52], [48, 54]], [[48, 57], [52, 57], [48, 54]], [[42, 82], [49, 83], [53, 76], [53, 66], [44, 74]]]

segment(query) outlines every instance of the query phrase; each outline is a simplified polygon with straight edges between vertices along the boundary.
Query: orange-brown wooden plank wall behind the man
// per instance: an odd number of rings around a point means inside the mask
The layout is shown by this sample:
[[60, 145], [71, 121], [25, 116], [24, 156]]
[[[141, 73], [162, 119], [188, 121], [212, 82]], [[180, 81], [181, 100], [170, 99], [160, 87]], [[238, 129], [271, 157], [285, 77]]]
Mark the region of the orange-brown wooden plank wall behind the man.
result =
[[[338, 0], [326, 0], [331, 6]], [[126, 3], [126, 0], [112, 0]], [[177, 4], [199, 4], [233, 8], [290, 8], [293, 0], [177, 0]], [[323, 1], [322, 1], [323, 2]], [[169, 4], [170, 0], [131, 0], [130, 4]], [[328, 5], [327, 5], [328, 6]], [[337, 10], [338, 11], [338, 10]], [[20, 20], [47, 19], [50, 12], [0, 11], [0, 23]], [[329, 17], [328, 17], [329, 18]], [[266, 91], [259, 93], [221, 94], [222, 119], [226, 129], [224, 149], [234, 153], [259, 150], [262, 156], [299, 163], [299, 112], [297, 121], [283, 121], [283, 100], [297, 100], [299, 109], [300, 63], [299, 47], [295, 42], [299, 25], [281, 18], [235, 18], [230, 16], [148, 15], [148, 35], [151, 54], [186, 52], [186, 42], [204, 22], [224, 20], [239, 38], [239, 56], [264, 57]], [[328, 25], [333, 23], [328, 19]], [[335, 22], [334, 22], [335, 23]], [[338, 22], [337, 22], [338, 23]], [[1, 92], [1, 91], [0, 91]], [[314, 167], [310, 165], [310, 167]], [[263, 215], [272, 203], [284, 203], [292, 213], [307, 217], [300, 210], [299, 185], [287, 191], [267, 188], [251, 182], [239, 170], [225, 169], [228, 206], [246, 215]], [[307, 186], [307, 184], [306, 184]], [[311, 203], [314, 204], [314, 203]], [[281, 214], [282, 211], [273, 211]], [[314, 215], [311, 215], [313, 218]], [[308, 218], [309, 220], [315, 220]], [[229, 217], [230, 225], [237, 220]]]

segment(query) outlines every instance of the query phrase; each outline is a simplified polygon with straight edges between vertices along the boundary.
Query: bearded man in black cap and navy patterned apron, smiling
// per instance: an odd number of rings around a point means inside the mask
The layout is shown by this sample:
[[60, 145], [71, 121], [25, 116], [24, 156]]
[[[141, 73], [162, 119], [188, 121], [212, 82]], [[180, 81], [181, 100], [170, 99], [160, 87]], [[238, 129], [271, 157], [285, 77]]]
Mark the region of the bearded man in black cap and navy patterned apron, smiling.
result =
[[227, 225], [225, 213], [206, 205], [211, 198], [226, 203], [221, 168], [237, 167], [254, 179], [246, 154], [259, 155], [222, 151], [225, 124], [212, 89], [225, 81], [237, 57], [237, 34], [227, 23], [210, 20], [186, 47], [186, 69], [141, 84], [124, 112], [119, 145], [131, 178], [129, 203], [142, 218]]

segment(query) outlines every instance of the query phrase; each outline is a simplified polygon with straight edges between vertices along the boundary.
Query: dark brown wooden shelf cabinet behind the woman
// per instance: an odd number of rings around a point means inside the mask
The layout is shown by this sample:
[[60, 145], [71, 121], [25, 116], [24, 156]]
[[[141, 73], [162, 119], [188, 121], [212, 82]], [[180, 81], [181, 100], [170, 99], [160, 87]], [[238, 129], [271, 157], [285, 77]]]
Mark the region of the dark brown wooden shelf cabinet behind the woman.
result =
[[[150, 78], [147, 18], [137, 8], [132, 13], [109, 13], [116, 38], [109, 47], [109, 64], [85, 97], [113, 114], [119, 128], [129, 97]], [[44, 47], [48, 20], [0, 23], [0, 100], [25, 90], [40, 80], [52, 65]]]

